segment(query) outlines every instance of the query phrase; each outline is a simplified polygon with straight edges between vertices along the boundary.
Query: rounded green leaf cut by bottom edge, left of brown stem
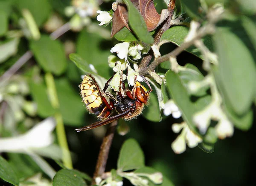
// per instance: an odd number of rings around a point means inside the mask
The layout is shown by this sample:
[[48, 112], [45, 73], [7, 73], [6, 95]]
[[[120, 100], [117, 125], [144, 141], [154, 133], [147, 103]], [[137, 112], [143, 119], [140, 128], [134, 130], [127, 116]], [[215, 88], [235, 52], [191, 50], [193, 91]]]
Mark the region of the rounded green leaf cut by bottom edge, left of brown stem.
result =
[[77, 171], [61, 169], [53, 177], [52, 186], [86, 186], [84, 179]]

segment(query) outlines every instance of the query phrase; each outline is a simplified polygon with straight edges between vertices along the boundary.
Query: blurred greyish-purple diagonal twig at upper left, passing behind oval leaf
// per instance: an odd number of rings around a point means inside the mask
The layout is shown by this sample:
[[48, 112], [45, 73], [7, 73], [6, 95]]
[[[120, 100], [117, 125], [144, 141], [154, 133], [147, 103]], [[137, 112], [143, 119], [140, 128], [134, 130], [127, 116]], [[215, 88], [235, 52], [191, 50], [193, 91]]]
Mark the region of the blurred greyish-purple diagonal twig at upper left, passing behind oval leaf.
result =
[[[50, 37], [52, 38], [52, 40], [57, 39], [58, 37], [60, 37], [61, 35], [63, 35], [64, 33], [66, 33], [67, 31], [69, 31], [71, 29], [70, 27], [70, 23], [66, 23], [63, 26], [61, 26], [60, 28], [58, 28], [57, 30], [55, 30], [54, 32], [52, 32], [50, 34]], [[10, 79], [10, 77], [12, 77], [13, 74], [15, 74], [21, 66], [23, 66], [31, 57], [33, 56], [32, 51], [27, 51], [25, 54], [23, 54], [17, 61], [16, 63], [11, 66], [1, 77], [0, 77], [0, 84], [2, 85], [3, 83], [5, 83], [6, 81], [8, 81]]]

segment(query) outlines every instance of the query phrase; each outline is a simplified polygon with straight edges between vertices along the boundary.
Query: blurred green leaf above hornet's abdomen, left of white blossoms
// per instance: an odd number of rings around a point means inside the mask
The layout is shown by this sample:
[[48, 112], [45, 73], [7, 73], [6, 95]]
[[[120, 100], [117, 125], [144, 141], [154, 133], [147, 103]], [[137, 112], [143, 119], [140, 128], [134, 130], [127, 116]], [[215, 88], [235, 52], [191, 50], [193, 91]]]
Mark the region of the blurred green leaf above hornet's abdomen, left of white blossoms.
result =
[[109, 79], [113, 71], [108, 66], [108, 56], [113, 47], [110, 41], [104, 40], [97, 34], [81, 31], [77, 42], [77, 53], [87, 64], [92, 64], [98, 74]]

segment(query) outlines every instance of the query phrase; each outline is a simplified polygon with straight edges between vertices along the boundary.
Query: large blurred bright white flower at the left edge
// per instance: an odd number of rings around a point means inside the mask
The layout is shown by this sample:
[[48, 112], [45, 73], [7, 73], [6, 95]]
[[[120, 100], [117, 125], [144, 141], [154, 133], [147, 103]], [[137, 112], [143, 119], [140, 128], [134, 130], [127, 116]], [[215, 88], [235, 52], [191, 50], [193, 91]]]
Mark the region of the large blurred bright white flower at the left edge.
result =
[[0, 139], [0, 152], [21, 152], [34, 148], [43, 148], [53, 142], [52, 131], [55, 128], [55, 120], [49, 117], [25, 134], [16, 137], [3, 137]]

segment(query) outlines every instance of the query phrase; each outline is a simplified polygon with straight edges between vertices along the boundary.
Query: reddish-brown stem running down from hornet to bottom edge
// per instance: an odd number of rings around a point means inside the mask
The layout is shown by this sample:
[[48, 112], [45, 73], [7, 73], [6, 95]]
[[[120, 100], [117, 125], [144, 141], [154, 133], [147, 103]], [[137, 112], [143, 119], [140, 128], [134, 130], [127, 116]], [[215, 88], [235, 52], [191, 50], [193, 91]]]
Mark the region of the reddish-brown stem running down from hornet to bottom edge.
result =
[[100, 146], [99, 156], [96, 164], [96, 168], [93, 174], [92, 185], [95, 184], [95, 178], [101, 177], [106, 169], [109, 150], [113, 141], [114, 133], [116, 131], [117, 121], [113, 121], [107, 129], [105, 137], [103, 138], [102, 145]]

